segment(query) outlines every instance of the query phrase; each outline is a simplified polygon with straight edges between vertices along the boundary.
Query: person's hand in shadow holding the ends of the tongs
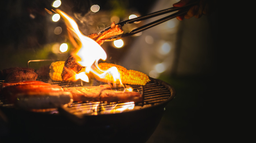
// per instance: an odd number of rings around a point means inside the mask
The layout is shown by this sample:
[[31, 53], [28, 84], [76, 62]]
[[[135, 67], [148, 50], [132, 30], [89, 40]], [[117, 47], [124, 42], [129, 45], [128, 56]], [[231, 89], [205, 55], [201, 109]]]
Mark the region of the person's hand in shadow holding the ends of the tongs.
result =
[[[181, 0], [175, 4], [173, 4], [173, 7], [183, 7], [189, 2], [193, 2], [195, 0]], [[178, 20], [183, 20], [184, 18], [189, 19], [191, 17], [200, 18], [203, 14], [207, 15], [209, 14], [209, 3], [212, 0], [200, 0], [200, 2], [191, 8], [189, 8], [188, 12], [185, 15], [177, 16], [176, 18]]]

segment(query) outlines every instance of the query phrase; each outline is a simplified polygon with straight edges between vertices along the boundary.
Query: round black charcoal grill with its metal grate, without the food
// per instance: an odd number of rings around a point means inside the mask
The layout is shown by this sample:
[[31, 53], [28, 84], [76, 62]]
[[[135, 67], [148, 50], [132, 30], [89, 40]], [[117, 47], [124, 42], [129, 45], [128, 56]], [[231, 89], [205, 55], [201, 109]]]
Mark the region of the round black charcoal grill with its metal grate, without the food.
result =
[[[106, 84], [39, 80], [62, 87]], [[8, 134], [4, 139], [8, 142], [10, 138], [11, 141], [32, 142], [146, 142], [159, 124], [165, 106], [176, 94], [171, 85], [159, 79], [150, 80], [144, 86], [129, 85], [143, 95], [143, 101], [140, 103], [74, 102], [58, 109], [34, 112], [17, 109], [1, 99], [0, 109], [8, 118]], [[134, 108], [118, 110], [127, 106]]]

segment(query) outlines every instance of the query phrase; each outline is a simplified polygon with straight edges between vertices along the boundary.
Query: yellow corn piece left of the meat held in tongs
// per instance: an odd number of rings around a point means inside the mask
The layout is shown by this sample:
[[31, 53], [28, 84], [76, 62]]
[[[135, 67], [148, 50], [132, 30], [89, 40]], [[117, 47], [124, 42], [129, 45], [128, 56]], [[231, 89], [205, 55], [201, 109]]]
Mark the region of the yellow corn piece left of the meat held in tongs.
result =
[[[65, 61], [56, 61], [56, 62], [53, 62], [50, 65], [49, 75], [50, 75], [52, 80], [62, 81], [61, 73], [62, 73], [62, 70], [63, 70], [63, 67], [64, 67], [64, 63], [65, 63]], [[69, 81], [75, 81], [75, 76], [70, 77], [68, 80]]]

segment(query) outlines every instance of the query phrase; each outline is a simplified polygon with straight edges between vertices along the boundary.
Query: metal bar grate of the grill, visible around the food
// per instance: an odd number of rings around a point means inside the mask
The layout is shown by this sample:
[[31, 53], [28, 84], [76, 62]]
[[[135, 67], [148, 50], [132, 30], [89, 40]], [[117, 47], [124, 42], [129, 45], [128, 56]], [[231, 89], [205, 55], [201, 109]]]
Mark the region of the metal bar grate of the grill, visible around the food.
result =
[[[98, 81], [86, 83], [80, 80], [76, 82], [68, 82], [68, 81], [51, 81], [48, 79], [39, 79], [39, 81], [50, 83], [52, 85], [59, 85], [61, 87], [98, 86], [100, 84], [106, 84]], [[171, 97], [172, 93], [170, 91], [170, 87], [166, 87], [166, 85], [161, 84], [157, 79], [151, 78], [151, 81], [144, 86], [140, 86], [140, 85], [129, 85], [129, 86], [133, 88], [133, 91], [139, 92], [143, 95], [142, 102], [140, 103], [74, 102], [64, 107], [64, 110], [74, 115], [115, 114], [115, 113], [131, 111], [131, 110], [138, 110], [141, 108], [147, 108], [147, 107], [165, 102], [170, 98], [173, 98]], [[122, 91], [123, 89], [124, 88], [112, 88], [112, 90], [119, 90], [119, 91]], [[4, 101], [5, 100], [2, 99], [2, 106], [11, 107], [10, 104], [5, 103]], [[58, 113], [58, 110], [56, 109], [54, 112], [51, 111], [49, 113]]]

